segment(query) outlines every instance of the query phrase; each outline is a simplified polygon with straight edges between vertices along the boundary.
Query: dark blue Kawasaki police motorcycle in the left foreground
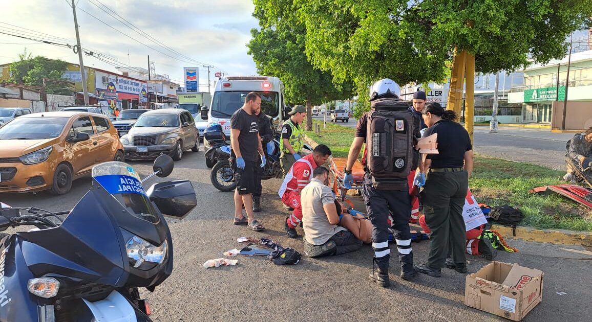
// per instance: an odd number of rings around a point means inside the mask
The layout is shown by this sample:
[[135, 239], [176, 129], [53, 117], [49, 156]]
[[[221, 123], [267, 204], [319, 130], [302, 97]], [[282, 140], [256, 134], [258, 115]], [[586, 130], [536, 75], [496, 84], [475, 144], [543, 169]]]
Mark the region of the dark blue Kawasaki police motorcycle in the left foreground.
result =
[[0, 322], [151, 321], [138, 288], [153, 292], [172, 272], [164, 216], [182, 219], [197, 205], [188, 180], [144, 191], [173, 164], [161, 155], [144, 180], [124, 162], [96, 165], [91, 189], [69, 212], [1, 204], [0, 230], [35, 228], [0, 242]]

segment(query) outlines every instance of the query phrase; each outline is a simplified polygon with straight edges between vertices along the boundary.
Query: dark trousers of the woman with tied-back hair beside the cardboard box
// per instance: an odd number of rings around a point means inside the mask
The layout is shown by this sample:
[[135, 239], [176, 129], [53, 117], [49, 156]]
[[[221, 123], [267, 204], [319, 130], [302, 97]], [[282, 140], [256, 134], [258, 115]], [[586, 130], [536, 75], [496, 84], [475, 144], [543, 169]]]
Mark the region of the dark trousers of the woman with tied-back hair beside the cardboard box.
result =
[[456, 264], [466, 263], [462, 207], [468, 186], [466, 171], [427, 174], [421, 196], [426, 224], [432, 230], [427, 258], [427, 264], [432, 268], [443, 268], [448, 256]]

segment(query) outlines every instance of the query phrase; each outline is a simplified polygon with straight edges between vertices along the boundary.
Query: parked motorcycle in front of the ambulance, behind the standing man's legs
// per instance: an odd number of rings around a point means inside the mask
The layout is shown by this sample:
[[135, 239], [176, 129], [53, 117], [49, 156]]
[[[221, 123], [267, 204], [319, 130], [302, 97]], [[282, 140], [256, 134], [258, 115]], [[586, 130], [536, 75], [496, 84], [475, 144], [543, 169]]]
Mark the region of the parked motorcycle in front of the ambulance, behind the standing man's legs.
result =
[[[214, 124], [204, 131], [204, 138], [211, 144], [211, 148], [205, 152], [206, 165], [214, 163], [210, 173], [210, 180], [215, 188], [220, 191], [232, 191], [236, 188], [234, 170], [230, 166], [230, 144], [219, 124]], [[268, 144], [268, 159], [263, 167], [262, 180], [282, 177], [282, 167], [279, 164], [279, 132], [275, 132], [274, 140]]]

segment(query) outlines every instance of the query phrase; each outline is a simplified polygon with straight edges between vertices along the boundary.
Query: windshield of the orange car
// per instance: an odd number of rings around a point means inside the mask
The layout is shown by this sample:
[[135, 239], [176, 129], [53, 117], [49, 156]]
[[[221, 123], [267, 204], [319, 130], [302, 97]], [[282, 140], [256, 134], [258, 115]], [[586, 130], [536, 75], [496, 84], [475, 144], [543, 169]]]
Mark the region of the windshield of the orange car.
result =
[[57, 138], [69, 118], [16, 118], [0, 128], [0, 140]]

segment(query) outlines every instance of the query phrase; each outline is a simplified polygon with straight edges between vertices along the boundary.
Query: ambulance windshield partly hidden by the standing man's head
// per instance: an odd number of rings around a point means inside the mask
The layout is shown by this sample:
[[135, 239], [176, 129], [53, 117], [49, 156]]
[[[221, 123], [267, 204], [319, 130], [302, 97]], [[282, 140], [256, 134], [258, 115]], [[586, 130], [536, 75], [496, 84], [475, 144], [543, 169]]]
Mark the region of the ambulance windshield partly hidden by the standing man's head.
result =
[[[230, 118], [244, 103], [244, 97], [252, 91], [215, 92], [212, 100], [212, 116], [214, 118]], [[261, 95], [261, 113], [278, 116], [279, 98], [277, 92], [258, 92]]]

